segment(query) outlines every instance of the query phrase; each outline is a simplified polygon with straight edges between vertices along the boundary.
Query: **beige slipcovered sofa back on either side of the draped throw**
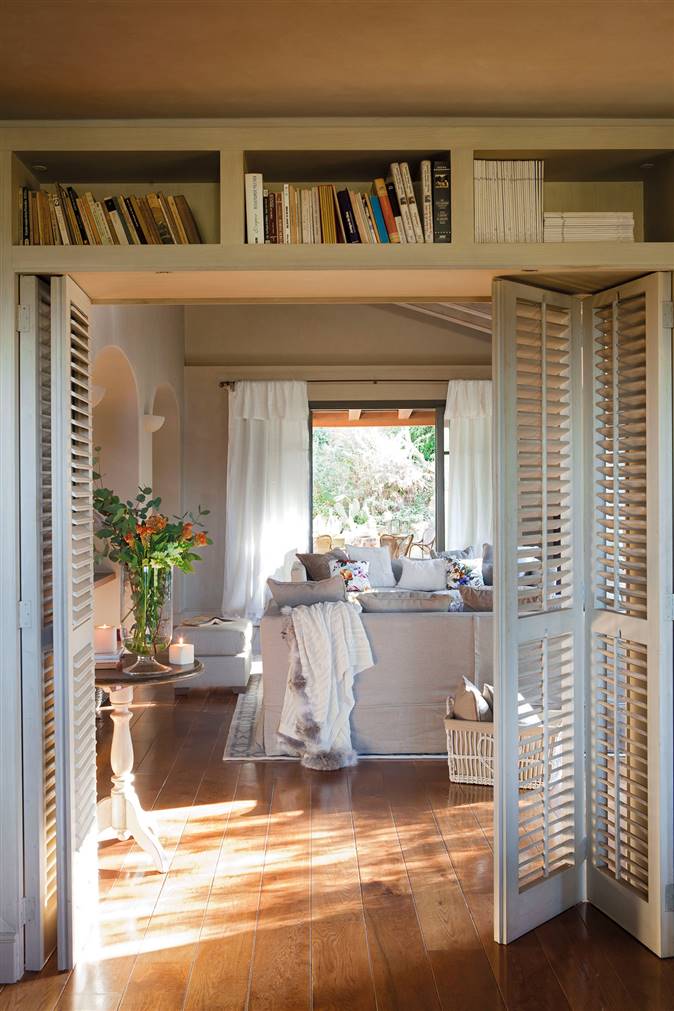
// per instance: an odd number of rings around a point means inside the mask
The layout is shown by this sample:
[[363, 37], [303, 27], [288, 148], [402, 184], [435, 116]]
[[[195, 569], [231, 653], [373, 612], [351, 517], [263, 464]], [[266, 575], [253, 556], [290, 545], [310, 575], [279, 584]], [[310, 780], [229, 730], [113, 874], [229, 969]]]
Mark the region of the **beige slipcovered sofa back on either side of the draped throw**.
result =
[[[465, 674], [493, 681], [492, 615], [466, 612], [363, 614], [375, 664], [358, 674], [351, 717], [361, 754], [446, 754], [445, 706]], [[288, 676], [284, 616], [262, 619], [264, 743], [280, 754], [277, 729]]]

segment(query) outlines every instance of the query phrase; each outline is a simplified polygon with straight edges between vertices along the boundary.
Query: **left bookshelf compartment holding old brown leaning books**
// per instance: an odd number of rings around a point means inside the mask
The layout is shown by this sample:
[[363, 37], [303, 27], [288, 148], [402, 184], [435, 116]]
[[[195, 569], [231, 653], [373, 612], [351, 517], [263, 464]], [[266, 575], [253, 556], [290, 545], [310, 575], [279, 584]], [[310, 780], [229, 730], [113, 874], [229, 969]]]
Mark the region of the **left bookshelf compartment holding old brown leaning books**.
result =
[[[26, 227], [23, 206], [23, 189], [29, 192], [59, 194], [59, 184], [66, 194], [70, 189], [82, 200], [85, 194], [91, 194], [94, 204], [88, 201], [90, 211], [88, 222], [84, 221], [82, 207], [78, 203], [85, 234], [89, 242], [74, 242], [76, 227], [76, 211], [73, 198], [67, 214], [65, 229], [70, 237], [70, 243], [63, 241], [64, 224], [58, 238], [61, 242], [24, 242]], [[13, 242], [15, 245], [201, 245], [216, 244], [220, 241], [220, 153], [219, 151], [29, 151], [15, 152], [12, 158], [12, 192], [15, 198], [16, 212], [14, 215]], [[149, 194], [162, 194], [162, 199], [155, 199], [156, 212], [148, 203]], [[61, 194], [64, 197], [64, 192]], [[140, 206], [134, 203], [129, 206], [126, 201], [122, 206], [119, 197], [141, 198]], [[183, 197], [176, 201], [176, 197]], [[174, 200], [169, 198], [173, 197]], [[103, 210], [104, 201], [117, 198]], [[85, 198], [88, 200], [88, 198]], [[35, 201], [32, 201], [33, 212]], [[185, 209], [187, 204], [187, 210]], [[54, 206], [54, 204], [53, 204]], [[62, 208], [63, 211], [64, 208]], [[117, 211], [117, 217], [110, 217], [111, 211]], [[27, 210], [27, 208], [26, 208]], [[135, 219], [133, 213], [135, 211]], [[51, 213], [50, 204], [40, 204], [42, 214], [40, 224], [42, 238], [49, 226], [45, 221], [52, 218], [53, 228], [59, 227], [56, 211]], [[141, 217], [150, 213], [153, 221]], [[105, 218], [105, 224], [100, 215]], [[190, 220], [190, 214], [193, 221]], [[91, 225], [93, 218], [94, 233]], [[29, 222], [28, 222], [29, 223]], [[107, 225], [107, 227], [106, 227]], [[151, 229], [152, 228], [152, 233]], [[138, 239], [138, 231], [149, 240], [147, 243], [131, 241]], [[35, 232], [33, 232], [35, 235]], [[200, 243], [197, 242], [197, 236]], [[102, 239], [102, 242], [92, 241]], [[111, 240], [111, 241], [110, 241]], [[125, 241], [124, 241], [125, 240]]]

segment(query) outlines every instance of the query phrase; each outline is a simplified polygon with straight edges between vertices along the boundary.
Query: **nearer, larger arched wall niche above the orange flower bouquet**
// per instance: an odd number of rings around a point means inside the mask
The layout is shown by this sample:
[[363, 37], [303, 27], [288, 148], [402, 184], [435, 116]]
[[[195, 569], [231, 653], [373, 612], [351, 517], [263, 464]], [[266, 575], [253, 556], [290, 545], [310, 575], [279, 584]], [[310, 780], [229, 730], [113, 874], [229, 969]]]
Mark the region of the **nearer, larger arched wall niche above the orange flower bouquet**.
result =
[[108, 346], [97, 355], [92, 384], [105, 391], [93, 408], [98, 470], [105, 487], [132, 498], [140, 480], [140, 410], [135, 374], [120, 348]]

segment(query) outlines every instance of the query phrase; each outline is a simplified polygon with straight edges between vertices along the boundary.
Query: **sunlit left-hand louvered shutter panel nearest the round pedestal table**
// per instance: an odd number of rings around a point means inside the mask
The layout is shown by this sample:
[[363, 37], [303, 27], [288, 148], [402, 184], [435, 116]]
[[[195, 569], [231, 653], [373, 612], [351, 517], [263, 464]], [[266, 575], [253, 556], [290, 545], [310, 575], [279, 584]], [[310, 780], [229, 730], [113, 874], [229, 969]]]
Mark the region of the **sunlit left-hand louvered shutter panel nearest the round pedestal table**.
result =
[[77, 960], [97, 897], [89, 300], [52, 279], [52, 428], [59, 968]]

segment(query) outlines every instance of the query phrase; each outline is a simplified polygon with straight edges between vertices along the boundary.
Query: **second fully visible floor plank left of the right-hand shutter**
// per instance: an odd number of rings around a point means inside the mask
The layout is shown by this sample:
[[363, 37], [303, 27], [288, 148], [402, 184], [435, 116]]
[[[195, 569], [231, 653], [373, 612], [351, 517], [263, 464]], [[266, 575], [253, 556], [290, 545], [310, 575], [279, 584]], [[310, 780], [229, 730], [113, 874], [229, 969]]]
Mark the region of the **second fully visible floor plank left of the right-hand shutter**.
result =
[[353, 769], [351, 788], [377, 1007], [432, 1011], [440, 999], [377, 764]]

